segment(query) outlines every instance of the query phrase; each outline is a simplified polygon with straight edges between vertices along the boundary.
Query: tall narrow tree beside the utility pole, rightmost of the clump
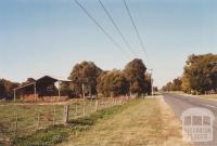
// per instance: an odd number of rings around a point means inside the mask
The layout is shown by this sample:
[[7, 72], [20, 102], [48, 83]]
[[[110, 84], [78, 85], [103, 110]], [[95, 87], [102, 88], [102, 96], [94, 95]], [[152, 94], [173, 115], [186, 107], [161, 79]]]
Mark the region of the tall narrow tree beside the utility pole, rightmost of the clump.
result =
[[142, 59], [135, 58], [130, 63], [128, 63], [124, 69], [125, 77], [127, 78], [130, 84], [130, 94], [137, 93], [138, 95], [145, 93], [144, 87], [144, 75], [146, 71], [146, 67], [143, 64]]

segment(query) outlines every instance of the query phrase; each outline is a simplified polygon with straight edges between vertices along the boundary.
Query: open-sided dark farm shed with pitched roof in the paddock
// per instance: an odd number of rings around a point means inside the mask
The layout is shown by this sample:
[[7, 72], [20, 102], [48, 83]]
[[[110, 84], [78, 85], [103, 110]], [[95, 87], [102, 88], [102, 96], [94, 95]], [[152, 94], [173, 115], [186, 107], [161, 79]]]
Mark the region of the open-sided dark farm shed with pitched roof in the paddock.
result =
[[[49, 76], [44, 76], [38, 80], [31, 80], [29, 83], [23, 84], [14, 89], [14, 101], [63, 101], [67, 99], [67, 95], [61, 94], [60, 83], [71, 82], [69, 80], [60, 80]], [[59, 87], [55, 87], [59, 83]]]

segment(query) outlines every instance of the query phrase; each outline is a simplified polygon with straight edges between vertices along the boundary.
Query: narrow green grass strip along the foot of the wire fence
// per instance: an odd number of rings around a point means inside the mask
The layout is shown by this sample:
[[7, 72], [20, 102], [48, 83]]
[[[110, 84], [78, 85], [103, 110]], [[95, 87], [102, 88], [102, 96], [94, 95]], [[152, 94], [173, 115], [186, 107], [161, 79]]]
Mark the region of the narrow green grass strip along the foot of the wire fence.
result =
[[106, 118], [123, 111], [128, 106], [137, 104], [138, 101], [131, 101], [125, 105], [114, 106], [100, 110], [90, 116], [72, 120], [67, 125], [50, 127], [46, 130], [39, 130], [33, 135], [15, 138], [12, 145], [16, 146], [53, 146], [66, 141], [69, 136], [80, 136], [84, 132], [94, 125], [98, 120]]

